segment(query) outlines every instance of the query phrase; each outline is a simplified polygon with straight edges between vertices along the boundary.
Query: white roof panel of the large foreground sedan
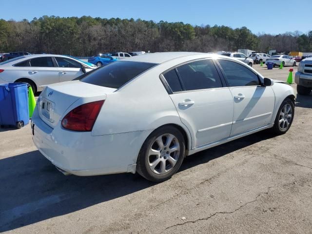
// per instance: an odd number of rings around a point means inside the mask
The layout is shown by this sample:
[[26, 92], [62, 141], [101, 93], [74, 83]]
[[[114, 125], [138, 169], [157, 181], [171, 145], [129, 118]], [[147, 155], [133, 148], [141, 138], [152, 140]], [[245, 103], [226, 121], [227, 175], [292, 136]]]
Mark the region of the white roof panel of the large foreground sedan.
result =
[[172, 59], [178, 59], [181, 57], [192, 55], [205, 55], [206, 57], [213, 57], [213, 54], [198, 53], [198, 52], [157, 52], [148, 53], [144, 55], [134, 56], [123, 60], [137, 61], [137, 62], [151, 62], [151, 63], [163, 63]]

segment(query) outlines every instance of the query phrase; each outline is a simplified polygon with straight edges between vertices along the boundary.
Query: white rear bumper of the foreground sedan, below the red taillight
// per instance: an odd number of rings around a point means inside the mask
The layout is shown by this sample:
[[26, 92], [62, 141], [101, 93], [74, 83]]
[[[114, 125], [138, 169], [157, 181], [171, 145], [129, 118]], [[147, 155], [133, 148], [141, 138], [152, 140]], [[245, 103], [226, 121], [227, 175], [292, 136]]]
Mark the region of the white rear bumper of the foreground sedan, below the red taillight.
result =
[[62, 129], [60, 122], [53, 129], [44, 123], [36, 108], [32, 118], [33, 141], [49, 161], [77, 176], [135, 172], [138, 152], [152, 132], [92, 136], [91, 132]]

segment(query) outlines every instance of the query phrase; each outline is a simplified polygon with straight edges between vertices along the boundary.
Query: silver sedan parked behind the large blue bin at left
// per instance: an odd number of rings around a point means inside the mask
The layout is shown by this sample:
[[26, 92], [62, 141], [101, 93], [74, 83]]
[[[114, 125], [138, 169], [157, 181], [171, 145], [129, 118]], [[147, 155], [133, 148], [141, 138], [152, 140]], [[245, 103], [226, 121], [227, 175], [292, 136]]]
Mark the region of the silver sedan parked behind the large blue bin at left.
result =
[[0, 63], [0, 83], [25, 82], [35, 92], [73, 80], [96, 67], [63, 55], [27, 55]]

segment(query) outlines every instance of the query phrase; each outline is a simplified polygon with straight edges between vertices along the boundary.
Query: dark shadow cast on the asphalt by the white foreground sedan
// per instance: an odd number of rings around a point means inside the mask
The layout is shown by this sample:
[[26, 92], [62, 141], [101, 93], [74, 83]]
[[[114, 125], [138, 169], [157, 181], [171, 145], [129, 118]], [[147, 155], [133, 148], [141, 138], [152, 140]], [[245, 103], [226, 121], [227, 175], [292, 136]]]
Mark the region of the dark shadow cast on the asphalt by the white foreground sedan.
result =
[[[274, 137], [262, 131], [186, 158], [179, 172]], [[177, 175], [178, 176], [178, 175]], [[138, 175], [64, 176], [39, 151], [0, 159], [0, 232], [154, 186]]]

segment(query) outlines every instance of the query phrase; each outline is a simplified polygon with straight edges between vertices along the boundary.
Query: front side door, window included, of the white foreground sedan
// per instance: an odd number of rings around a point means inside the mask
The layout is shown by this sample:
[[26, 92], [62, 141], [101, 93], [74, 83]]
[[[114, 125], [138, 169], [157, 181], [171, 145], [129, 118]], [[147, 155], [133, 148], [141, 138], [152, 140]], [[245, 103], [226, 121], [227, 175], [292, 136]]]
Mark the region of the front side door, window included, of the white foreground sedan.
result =
[[269, 124], [275, 102], [272, 87], [261, 86], [257, 74], [247, 66], [225, 59], [218, 62], [234, 101], [231, 136]]

